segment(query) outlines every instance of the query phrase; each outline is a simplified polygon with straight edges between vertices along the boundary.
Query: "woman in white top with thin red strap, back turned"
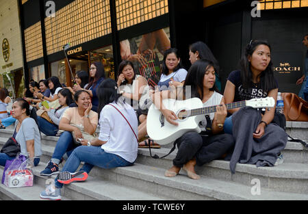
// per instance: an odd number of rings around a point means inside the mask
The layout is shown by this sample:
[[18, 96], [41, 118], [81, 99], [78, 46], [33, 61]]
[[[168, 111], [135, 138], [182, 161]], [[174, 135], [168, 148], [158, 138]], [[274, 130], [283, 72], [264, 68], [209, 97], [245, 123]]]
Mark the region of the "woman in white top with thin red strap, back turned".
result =
[[[55, 189], [42, 191], [41, 198], [61, 200], [63, 184], [86, 180], [93, 166], [110, 169], [133, 165], [136, 161], [138, 121], [135, 111], [125, 103], [124, 98], [121, 99], [113, 79], [105, 79], [99, 85], [98, 95], [101, 127], [99, 138], [91, 142], [82, 141], [84, 146], [73, 151], [62, 172], [55, 178]], [[82, 161], [84, 166], [79, 172], [75, 172]]]

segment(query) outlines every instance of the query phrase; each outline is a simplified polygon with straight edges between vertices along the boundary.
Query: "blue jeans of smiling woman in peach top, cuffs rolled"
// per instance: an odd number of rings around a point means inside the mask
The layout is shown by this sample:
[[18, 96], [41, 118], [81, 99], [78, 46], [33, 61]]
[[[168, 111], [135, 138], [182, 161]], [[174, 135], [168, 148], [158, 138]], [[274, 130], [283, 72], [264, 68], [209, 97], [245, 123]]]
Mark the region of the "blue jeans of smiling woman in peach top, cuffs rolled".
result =
[[51, 157], [51, 162], [59, 164], [65, 152], [69, 157], [76, 147], [77, 146], [73, 142], [72, 133], [70, 133], [70, 131], [64, 131], [57, 140], [55, 150], [53, 151], [53, 157]]

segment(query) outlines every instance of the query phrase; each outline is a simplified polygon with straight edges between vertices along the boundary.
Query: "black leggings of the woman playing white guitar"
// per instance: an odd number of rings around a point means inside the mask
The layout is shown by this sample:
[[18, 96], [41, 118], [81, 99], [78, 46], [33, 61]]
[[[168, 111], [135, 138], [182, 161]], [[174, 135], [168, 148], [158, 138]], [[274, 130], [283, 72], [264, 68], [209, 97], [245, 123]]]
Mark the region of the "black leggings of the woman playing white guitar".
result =
[[196, 157], [196, 164], [201, 166], [222, 157], [234, 146], [234, 139], [229, 134], [201, 136], [196, 132], [185, 133], [176, 140], [177, 156], [173, 165], [182, 168], [185, 163]]

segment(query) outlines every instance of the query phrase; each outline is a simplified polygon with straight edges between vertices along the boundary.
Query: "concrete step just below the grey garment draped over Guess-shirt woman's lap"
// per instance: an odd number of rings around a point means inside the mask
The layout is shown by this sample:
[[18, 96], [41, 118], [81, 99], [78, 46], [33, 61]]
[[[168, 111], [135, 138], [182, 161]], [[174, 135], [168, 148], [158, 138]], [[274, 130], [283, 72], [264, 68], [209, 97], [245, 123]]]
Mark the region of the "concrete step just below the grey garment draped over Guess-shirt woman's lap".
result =
[[[168, 154], [168, 148], [151, 150], [152, 155], [159, 157]], [[157, 168], [168, 169], [172, 166], [172, 159], [176, 152], [164, 159], [153, 159], [149, 155], [149, 150], [139, 149], [136, 163], [149, 165]], [[275, 167], [257, 168], [256, 165], [240, 164], [235, 168], [235, 174], [231, 176], [229, 161], [216, 160], [203, 165], [196, 166], [196, 173], [219, 180], [233, 181], [242, 185], [251, 185], [251, 180], [257, 178], [261, 181], [261, 187], [274, 191], [284, 191], [293, 193], [308, 193], [308, 165], [307, 163], [283, 163]]]

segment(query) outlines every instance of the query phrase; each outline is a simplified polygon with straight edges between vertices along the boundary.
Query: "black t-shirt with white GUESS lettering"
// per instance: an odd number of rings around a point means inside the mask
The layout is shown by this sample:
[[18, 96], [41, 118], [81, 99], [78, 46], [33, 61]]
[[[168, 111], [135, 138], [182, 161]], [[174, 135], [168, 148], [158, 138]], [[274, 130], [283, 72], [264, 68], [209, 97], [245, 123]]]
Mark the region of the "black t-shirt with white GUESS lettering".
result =
[[[235, 85], [235, 96], [233, 102], [246, 101], [252, 98], [264, 98], [268, 96], [268, 92], [274, 88], [271, 88], [267, 92], [260, 88], [260, 84], [253, 84], [253, 88], [244, 89], [240, 70], [233, 70], [228, 77], [228, 80]], [[277, 80], [276, 85], [278, 85]]]

